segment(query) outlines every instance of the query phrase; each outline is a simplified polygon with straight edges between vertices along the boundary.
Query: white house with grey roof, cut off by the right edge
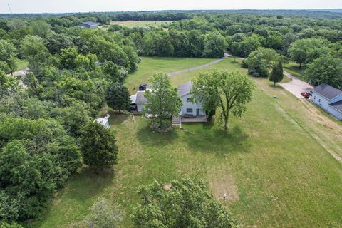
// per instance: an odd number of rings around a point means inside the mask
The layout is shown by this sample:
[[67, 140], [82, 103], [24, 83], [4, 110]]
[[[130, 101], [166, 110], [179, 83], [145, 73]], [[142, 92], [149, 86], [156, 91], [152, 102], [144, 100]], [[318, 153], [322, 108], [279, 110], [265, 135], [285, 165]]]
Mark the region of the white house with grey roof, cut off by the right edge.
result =
[[342, 120], [342, 91], [323, 83], [312, 91], [311, 101]]

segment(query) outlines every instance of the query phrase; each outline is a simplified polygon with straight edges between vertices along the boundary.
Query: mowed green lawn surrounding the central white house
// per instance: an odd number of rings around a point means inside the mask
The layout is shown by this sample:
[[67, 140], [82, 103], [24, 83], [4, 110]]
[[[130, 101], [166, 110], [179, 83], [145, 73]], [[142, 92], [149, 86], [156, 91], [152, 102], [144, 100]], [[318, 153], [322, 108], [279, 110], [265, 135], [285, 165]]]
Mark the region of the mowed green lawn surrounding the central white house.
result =
[[[143, 58], [127, 83], [157, 68], [151, 63], [157, 60]], [[245, 72], [232, 59], [209, 68]], [[207, 69], [174, 76], [172, 82], [179, 85]], [[131, 227], [139, 185], [183, 176], [204, 178], [219, 200], [227, 193], [227, 208], [247, 227], [341, 227], [342, 165], [331, 155], [342, 156], [341, 124], [264, 78], [254, 81], [247, 113], [232, 118], [228, 134], [220, 123], [152, 133], [139, 116], [133, 122], [128, 115], [111, 115], [120, 149], [115, 171], [75, 175], [35, 227], [68, 227], [83, 219], [99, 195], [120, 204], [127, 214], [120, 225]]]

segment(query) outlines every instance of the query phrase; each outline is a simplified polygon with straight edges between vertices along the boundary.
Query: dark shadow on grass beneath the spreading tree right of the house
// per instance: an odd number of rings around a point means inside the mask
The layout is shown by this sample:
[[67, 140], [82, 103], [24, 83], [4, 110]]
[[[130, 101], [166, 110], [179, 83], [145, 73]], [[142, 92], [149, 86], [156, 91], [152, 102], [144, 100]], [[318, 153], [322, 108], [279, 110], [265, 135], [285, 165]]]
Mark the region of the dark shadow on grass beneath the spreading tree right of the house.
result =
[[249, 135], [239, 125], [234, 125], [225, 132], [223, 129], [209, 128], [204, 124], [203, 128], [197, 129], [193, 134], [188, 133], [183, 140], [195, 152], [211, 152], [223, 156], [228, 153], [249, 152], [248, 138]]

